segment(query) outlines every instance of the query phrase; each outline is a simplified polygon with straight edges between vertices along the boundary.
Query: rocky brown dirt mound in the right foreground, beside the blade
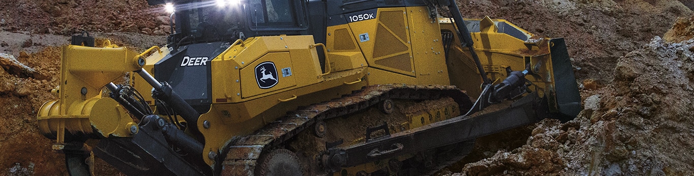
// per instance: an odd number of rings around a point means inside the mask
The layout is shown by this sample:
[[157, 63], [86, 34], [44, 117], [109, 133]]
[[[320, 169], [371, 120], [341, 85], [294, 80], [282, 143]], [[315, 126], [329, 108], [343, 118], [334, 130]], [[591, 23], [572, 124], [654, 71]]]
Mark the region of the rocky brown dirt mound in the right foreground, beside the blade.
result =
[[453, 175], [691, 173], [693, 47], [692, 39], [654, 37], [618, 59], [611, 84], [582, 89], [584, 110], [575, 120], [544, 120], [521, 148], [500, 150]]

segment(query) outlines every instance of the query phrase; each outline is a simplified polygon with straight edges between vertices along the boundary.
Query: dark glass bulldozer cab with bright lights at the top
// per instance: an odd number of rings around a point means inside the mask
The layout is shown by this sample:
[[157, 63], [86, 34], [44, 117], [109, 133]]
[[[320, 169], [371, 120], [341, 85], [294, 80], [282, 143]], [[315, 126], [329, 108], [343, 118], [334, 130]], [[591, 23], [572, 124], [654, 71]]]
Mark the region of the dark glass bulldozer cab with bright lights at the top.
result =
[[175, 10], [176, 31], [169, 44], [300, 35], [308, 26], [300, 0], [149, 1], [159, 3], [170, 3]]

